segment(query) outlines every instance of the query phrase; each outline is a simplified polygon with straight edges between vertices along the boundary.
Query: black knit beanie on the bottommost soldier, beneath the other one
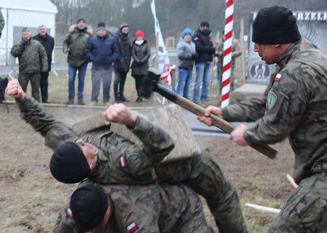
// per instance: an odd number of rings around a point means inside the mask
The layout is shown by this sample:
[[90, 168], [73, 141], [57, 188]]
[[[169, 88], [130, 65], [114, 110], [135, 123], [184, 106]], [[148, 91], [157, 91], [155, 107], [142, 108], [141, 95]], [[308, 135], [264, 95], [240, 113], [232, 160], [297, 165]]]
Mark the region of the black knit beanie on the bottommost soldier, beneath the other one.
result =
[[78, 188], [72, 194], [70, 203], [73, 219], [85, 229], [100, 225], [108, 209], [108, 196], [93, 185]]

